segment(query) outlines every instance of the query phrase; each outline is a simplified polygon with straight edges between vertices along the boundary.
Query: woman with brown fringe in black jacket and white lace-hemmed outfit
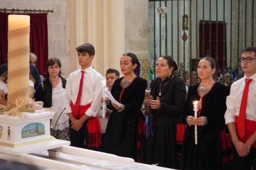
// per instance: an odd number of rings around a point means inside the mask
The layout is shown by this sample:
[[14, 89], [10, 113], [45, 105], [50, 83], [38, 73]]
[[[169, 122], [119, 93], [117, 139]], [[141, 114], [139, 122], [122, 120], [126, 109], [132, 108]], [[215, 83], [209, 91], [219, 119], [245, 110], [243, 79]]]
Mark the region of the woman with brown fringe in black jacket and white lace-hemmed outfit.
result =
[[57, 113], [52, 119], [51, 135], [56, 139], [69, 140], [68, 115], [61, 114], [67, 81], [60, 74], [60, 60], [49, 59], [46, 63], [46, 79], [36, 89], [35, 100], [43, 101], [43, 107], [57, 107]]

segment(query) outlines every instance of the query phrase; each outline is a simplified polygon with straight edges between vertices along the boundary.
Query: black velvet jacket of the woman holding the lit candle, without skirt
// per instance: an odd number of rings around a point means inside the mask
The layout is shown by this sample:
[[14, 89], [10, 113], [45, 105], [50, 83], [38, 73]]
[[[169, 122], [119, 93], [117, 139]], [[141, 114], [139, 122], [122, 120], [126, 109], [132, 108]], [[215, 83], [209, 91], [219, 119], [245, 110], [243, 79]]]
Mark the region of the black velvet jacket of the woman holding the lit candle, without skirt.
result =
[[[185, 105], [185, 111], [182, 115], [183, 123], [187, 124], [187, 117], [194, 115], [193, 101], [199, 101], [200, 96], [197, 93], [199, 84], [190, 86], [188, 89], [188, 98]], [[219, 135], [225, 125], [224, 114], [226, 111], [226, 97], [229, 95], [229, 87], [216, 82], [212, 89], [205, 94], [202, 102], [201, 116], [207, 117], [207, 125], [197, 126], [199, 134]], [[187, 133], [195, 134], [194, 126], [187, 127]]]

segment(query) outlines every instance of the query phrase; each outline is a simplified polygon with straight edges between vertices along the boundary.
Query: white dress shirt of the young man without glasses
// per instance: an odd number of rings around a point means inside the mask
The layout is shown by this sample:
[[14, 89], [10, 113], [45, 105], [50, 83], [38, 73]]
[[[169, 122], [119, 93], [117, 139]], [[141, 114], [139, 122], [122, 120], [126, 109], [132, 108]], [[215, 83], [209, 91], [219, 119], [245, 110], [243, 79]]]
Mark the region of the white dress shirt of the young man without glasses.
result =
[[[72, 113], [70, 102], [75, 105], [77, 95], [79, 92], [79, 84], [81, 79], [82, 69], [78, 69], [72, 72], [68, 76], [65, 92], [65, 107], [67, 107], [65, 113]], [[84, 80], [82, 86], [82, 95], [80, 105], [87, 105], [92, 103], [90, 108], [85, 112], [89, 117], [96, 117], [97, 113], [101, 110], [101, 97], [103, 96], [102, 91], [102, 75], [95, 71], [92, 66], [86, 68], [84, 73]]]

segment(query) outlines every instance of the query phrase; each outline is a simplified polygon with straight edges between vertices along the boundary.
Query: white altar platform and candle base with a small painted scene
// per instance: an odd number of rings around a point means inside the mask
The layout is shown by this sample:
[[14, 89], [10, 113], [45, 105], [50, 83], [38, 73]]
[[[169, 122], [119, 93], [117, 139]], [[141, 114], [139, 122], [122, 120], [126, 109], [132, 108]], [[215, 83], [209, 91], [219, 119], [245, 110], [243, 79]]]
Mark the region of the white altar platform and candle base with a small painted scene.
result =
[[40, 110], [22, 117], [0, 114], [0, 159], [45, 169], [168, 169], [135, 163], [134, 159], [69, 146], [50, 135], [54, 113]]

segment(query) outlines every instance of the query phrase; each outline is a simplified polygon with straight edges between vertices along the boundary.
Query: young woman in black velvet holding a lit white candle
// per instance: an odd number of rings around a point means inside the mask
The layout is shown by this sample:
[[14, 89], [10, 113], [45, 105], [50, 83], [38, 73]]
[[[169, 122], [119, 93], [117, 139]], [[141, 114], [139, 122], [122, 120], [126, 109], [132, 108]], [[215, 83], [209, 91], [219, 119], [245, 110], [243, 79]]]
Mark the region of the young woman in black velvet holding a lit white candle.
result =
[[[197, 74], [200, 84], [188, 89], [183, 123], [185, 130], [180, 169], [223, 169], [221, 154], [221, 131], [224, 129], [226, 97], [229, 88], [213, 81], [215, 62], [210, 57], [199, 61]], [[193, 111], [193, 101], [199, 101], [197, 118]], [[195, 125], [197, 125], [197, 144], [195, 144]], [[223, 139], [223, 138], [222, 138]], [[224, 143], [224, 140], [222, 140]]]

